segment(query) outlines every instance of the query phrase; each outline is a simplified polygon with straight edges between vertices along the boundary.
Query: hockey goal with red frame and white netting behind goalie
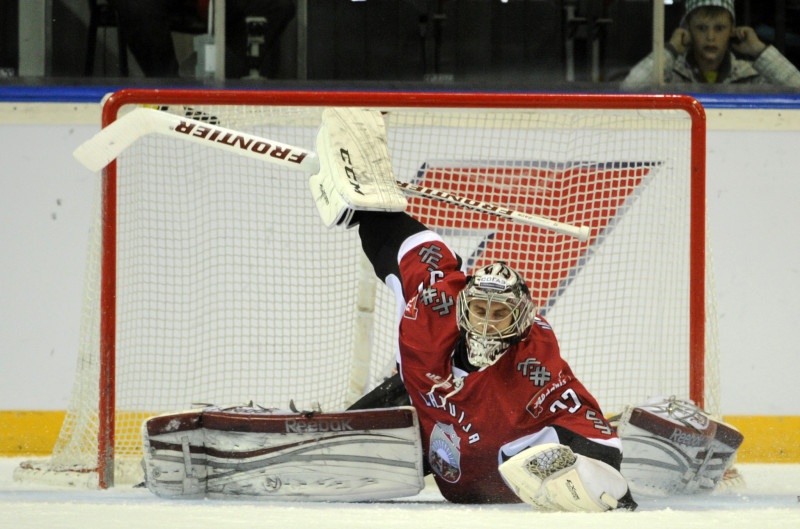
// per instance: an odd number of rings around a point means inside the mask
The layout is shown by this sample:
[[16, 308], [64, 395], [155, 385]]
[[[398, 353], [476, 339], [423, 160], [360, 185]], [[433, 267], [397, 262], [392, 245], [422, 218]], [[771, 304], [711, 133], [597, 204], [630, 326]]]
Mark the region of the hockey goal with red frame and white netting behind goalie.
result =
[[[693, 98], [135, 89], [106, 100], [103, 126], [141, 106], [303, 148], [324, 107], [382, 110], [398, 180], [591, 228], [580, 242], [409, 199], [470, 269], [505, 260], [526, 277], [607, 414], [669, 395], [719, 413]], [[249, 401], [337, 411], [391, 373], [402, 307], [355, 230], [323, 227], [307, 175], [154, 134], [99, 188], [69, 409], [52, 456], [17, 479], [136, 482], [148, 416]]]

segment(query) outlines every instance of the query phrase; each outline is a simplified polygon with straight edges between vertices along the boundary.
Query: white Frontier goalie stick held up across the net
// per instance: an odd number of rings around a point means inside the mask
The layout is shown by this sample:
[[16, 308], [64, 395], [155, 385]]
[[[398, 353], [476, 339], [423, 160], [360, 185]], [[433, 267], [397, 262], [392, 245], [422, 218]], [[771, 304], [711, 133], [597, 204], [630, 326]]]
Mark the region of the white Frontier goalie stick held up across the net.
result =
[[[87, 169], [97, 172], [136, 140], [153, 133], [199, 143], [308, 174], [319, 172], [319, 158], [312, 151], [151, 108], [137, 108], [122, 116], [75, 149], [73, 156]], [[569, 235], [580, 241], [589, 238], [589, 228], [586, 226], [572, 226], [539, 215], [416, 184], [398, 181], [397, 185], [410, 195], [489, 213], [529, 226]]]

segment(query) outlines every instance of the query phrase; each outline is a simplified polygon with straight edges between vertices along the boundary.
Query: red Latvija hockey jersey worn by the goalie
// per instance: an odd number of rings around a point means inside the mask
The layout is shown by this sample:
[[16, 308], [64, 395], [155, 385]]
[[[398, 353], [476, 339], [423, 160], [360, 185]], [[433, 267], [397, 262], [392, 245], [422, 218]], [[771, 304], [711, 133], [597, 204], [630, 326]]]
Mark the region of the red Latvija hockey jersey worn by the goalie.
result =
[[406, 241], [398, 258], [406, 301], [399, 369], [445, 498], [520, 501], [497, 470], [500, 450], [547, 426], [560, 425], [600, 442], [616, 439], [595, 399], [561, 358], [555, 334], [542, 318], [493, 366], [454, 372], [456, 298], [466, 284], [458, 260], [430, 231]]

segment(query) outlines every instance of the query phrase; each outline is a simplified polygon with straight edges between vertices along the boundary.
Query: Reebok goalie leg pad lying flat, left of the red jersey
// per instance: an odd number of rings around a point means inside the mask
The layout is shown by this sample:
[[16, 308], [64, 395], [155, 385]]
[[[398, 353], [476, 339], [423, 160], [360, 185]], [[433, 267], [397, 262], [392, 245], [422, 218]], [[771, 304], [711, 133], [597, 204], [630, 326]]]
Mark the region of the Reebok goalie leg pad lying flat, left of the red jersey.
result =
[[340, 413], [207, 407], [142, 426], [145, 485], [167, 498], [367, 501], [422, 490], [411, 407]]

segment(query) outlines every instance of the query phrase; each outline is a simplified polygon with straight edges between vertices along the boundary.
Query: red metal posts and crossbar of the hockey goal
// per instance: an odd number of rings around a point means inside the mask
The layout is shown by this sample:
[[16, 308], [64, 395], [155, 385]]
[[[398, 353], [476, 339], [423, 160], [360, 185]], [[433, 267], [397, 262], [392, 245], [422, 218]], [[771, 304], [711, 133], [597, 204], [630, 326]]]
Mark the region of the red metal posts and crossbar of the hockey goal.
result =
[[[521, 93], [434, 93], [365, 91], [241, 91], [241, 90], [122, 90], [111, 95], [102, 113], [102, 125], [114, 122], [130, 104], [292, 105], [439, 108], [539, 109], [656, 109], [685, 111], [691, 117], [691, 277], [690, 277], [690, 398], [703, 405], [705, 372], [705, 113], [684, 95], [591, 95]], [[117, 276], [117, 168], [103, 171], [102, 290], [100, 323], [100, 402], [98, 473], [100, 487], [113, 485], [115, 447], [115, 341]]]

